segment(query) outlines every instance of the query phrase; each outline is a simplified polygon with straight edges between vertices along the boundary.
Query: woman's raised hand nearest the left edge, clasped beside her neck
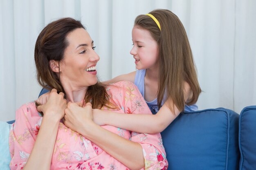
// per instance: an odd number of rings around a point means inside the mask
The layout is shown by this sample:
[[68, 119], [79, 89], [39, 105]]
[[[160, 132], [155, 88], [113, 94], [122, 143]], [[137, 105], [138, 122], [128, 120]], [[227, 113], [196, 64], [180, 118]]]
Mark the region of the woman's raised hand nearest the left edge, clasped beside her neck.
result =
[[49, 93], [47, 102], [37, 107], [39, 112], [43, 112], [44, 117], [60, 121], [65, 115], [65, 108], [67, 108], [67, 101], [64, 99], [64, 93], [57, 93], [55, 88]]

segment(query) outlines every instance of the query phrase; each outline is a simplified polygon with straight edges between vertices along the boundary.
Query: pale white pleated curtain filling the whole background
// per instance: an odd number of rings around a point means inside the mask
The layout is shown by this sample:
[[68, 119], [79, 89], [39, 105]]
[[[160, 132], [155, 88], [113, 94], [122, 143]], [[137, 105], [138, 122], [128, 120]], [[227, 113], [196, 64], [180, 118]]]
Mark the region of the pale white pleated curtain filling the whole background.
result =
[[169, 9], [187, 31], [204, 91], [199, 109], [224, 107], [240, 113], [256, 105], [255, 0], [0, 0], [0, 120], [37, 99], [34, 44], [43, 27], [72, 17], [88, 28], [101, 60], [101, 80], [135, 71], [134, 19]]

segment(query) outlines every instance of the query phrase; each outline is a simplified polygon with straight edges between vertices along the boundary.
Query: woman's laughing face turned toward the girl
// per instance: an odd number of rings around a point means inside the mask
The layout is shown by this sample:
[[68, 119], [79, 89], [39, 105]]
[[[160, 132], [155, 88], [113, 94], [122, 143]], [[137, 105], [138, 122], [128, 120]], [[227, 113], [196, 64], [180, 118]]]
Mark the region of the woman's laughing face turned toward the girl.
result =
[[99, 55], [94, 51], [89, 33], [75, 29], [67, 35], [68, 46], [60, 61], [61, 84], [72, 90], [79, 90], [97, 83], [96, 64]]

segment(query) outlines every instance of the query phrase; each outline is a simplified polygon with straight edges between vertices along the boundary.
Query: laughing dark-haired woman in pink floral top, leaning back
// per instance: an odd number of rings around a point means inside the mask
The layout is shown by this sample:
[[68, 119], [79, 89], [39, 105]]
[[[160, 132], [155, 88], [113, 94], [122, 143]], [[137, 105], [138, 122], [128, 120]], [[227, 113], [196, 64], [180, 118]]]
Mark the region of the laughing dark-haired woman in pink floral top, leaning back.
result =
[[36, 108], [31, 102], [16, 111], [9, 139], [11, 170], [167, 169], [159, 133], [139, 134], [92, 121], [92, 108], [150, 114], [135, 85], [98, 82], [94, 48], [81, 22], [72, 18], [56, 20], [40, 33], [37, 79], [53, 90], [46, 104]]

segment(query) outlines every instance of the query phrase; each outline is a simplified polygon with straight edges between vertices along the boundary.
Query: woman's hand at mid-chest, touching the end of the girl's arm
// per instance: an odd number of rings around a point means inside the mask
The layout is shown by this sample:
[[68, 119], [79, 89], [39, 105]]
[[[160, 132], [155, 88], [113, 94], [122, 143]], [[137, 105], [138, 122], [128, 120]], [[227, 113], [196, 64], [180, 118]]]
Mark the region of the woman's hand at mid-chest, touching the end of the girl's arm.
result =
[[65, 126], [81, 134], [81, 130], [84, 129], [84, 125], [92, 123], [92, 119], [91, 103], [87, 103], [85, 106], [82, 106], [81, 102], [68, 102], [64, 116]]

